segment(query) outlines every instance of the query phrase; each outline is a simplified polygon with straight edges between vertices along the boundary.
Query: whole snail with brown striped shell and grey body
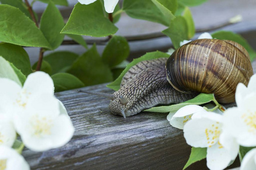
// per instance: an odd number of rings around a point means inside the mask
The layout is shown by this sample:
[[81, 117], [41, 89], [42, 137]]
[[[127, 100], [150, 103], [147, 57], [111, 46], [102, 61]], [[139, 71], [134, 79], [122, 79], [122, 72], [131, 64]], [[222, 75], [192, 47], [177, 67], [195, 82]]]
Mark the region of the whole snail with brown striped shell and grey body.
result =
[[133, 116], [159, 104], [176, 104], [199, 93], [214, 94], [220, 103], [234, 102], [238, 83], [253, 75], [249, 54], [230, 40], [199, 39], [180, 46], [169, 58], [142, 61], [123, 76], [111, 99], [113, 114]]

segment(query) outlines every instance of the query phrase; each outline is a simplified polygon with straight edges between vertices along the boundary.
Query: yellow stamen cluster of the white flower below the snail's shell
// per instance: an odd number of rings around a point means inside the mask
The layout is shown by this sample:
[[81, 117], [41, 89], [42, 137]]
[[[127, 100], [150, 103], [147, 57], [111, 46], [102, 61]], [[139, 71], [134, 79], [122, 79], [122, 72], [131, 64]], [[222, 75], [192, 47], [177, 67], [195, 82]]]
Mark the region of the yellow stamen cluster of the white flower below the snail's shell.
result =
[[214, 143], [218, 141], [218, 137], [220, 137], [220, 124], [216, 122], [209, 126], [209, 128], [205, 129], [205, 136], [207, 138], [207, 145], [208, 147], [212, 147]]

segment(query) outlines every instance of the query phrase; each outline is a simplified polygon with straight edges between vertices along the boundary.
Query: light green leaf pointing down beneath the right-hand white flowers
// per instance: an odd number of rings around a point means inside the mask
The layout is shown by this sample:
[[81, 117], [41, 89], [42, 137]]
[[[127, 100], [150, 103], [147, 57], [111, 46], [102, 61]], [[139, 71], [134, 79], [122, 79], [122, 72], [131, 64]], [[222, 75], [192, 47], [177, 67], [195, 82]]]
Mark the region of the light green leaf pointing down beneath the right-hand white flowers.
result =
[[201, 148], [201, 147], [192, 147], [191, 154], [189, 156], [188, 162], [185, 164], [183, 170], [187, 168], [192, 163], [195, 163], [199, 160], [205, 159], [207, 155], [207, 148]]

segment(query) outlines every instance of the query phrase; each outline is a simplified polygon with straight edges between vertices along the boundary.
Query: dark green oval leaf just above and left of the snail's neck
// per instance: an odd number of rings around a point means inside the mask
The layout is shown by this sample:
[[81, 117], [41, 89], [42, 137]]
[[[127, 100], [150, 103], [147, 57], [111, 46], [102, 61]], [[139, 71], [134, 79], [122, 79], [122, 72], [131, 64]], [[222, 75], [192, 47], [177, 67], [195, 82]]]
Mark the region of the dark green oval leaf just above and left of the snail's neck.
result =
[[125, 60], [130, 53], [129, 44], [122, 36], [113, 36], [102, 53], [102, 61], [110, 68]]

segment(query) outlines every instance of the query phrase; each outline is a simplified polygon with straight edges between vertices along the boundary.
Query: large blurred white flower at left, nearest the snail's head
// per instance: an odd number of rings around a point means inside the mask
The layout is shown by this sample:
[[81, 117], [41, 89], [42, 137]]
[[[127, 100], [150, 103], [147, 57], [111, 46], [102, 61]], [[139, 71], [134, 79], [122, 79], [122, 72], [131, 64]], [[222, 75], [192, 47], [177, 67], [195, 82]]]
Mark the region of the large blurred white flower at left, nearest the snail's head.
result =
[[27, 103], [26, 112], [15, 114], [14, 125], [32, 151], [63, 146], [74, 133], [70, 118], [60, 114], [59, 100], [49, 94], [37, 95]]

